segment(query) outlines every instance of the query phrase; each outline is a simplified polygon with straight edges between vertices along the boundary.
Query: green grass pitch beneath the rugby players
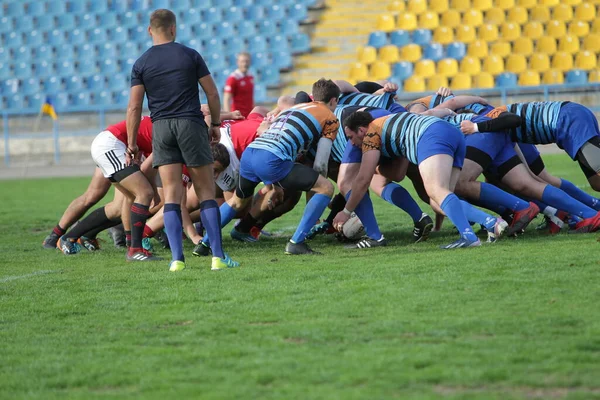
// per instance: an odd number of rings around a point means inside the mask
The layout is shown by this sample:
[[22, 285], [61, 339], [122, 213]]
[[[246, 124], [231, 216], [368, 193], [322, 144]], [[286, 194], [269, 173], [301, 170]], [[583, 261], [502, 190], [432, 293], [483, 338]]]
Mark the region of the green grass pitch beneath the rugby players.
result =
[[[566, 156], [545, 159], [586, 183]], [[445, 252], [448, 222], [412, 245], [378, 199], [387, 248], [322, 237], [324, 256], [291, 257], [284, 237], [225, 235], [242, 268], [211, 272], [188, 242], [174, 274], [109, 242], [41, 249], [87, 181], [0, 182], [2, 399], [600, 399], [596, 235], [530, 229]], [[291, 235], [300, 211], [268, 229]]]

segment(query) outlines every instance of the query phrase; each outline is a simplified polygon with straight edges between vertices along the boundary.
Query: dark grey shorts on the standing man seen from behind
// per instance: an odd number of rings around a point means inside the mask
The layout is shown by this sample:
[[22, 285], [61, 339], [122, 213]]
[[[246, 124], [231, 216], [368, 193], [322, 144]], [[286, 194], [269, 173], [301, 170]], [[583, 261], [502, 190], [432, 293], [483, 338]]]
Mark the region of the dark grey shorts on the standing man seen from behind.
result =
[[152, 166], [185, 164], [201, 167], [212, 164], [208, 128], [191, 119], [170, 118], [152, 123]]

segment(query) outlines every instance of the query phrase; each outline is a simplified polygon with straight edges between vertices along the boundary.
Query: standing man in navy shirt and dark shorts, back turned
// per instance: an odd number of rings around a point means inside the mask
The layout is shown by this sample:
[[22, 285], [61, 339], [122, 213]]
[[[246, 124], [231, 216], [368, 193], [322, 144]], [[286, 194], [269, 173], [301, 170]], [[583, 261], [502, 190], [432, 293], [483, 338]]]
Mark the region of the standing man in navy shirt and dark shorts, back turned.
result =
[[[210, 139], [220, 138], [221, 102], [215, 82], [196, 50], [175, 42], [175, 14], [159, 9], [150, 16], [148, 32], [153, 46], [135, 62], [131, 71], [131, 93], [127, 106], [127, 157], [139, 154], [137, 131], [144, 94], [152, 118], [153, 167], [158, 168], [165, 196], [165, 231], [172, 252], [170, 271], [185, 268], [181, 238], [182, 166], [188, 168], [200, 200], [200, 217], [211, 238], [212, 269], [239, 266], [221, 247], [221, 217], [215, 201], [213, 158]], [[210, 136], [200, 111], [198, 83], [202, 86], [212, 117]]]

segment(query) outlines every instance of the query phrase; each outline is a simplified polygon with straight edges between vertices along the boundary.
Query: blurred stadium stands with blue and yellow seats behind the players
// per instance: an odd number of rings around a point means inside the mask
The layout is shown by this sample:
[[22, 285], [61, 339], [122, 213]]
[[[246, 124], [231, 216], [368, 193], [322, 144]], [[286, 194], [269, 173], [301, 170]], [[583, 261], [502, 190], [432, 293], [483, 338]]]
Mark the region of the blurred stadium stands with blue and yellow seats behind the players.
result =
[[[252, 54], [255, 100], [319, 77], [389, 79], [401, 102], [449, 86], [505, 104], [572, 100], [600, 111], [600, 0], [12, 0], [0, 2], [0, 168], [91, 164], [125, 118], [152, 10], [217, 85]], [[49, 100], [58, 118], [40, 118]]]

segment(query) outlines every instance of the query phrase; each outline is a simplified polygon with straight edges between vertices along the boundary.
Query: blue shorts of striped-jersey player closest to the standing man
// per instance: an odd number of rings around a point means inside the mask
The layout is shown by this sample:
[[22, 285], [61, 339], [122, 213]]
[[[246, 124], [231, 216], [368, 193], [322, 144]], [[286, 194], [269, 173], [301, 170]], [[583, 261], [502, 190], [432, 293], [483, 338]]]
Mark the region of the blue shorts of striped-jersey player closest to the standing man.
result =
[[283, 180], [293, 167], [293, 161], [282, 160], [267, 150], [248, 147], [242, 153], [240, 175], [249, 181], [270, 185]]

